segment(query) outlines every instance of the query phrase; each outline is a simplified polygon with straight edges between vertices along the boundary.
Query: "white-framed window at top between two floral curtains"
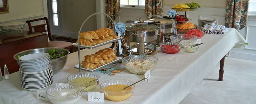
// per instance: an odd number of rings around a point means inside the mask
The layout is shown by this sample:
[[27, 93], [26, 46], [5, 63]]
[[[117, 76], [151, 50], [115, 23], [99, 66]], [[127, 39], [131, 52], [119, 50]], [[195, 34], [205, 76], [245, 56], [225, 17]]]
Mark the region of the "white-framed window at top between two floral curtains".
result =
[[145, 8], [145, 0], [120, 0], [120, 7]]

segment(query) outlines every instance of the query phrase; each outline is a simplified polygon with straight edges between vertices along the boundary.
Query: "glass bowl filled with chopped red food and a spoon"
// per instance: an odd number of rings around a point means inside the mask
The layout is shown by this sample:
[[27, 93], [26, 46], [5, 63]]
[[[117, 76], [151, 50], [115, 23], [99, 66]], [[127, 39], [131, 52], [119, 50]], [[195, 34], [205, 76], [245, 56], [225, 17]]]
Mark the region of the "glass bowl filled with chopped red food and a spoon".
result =
[[163, 42], [160, 44], [160, 48], [163, 52], [174, 54], [180, 51], [182, 45], [179, 43], [177, 46], [173, 47], [172, 42]]

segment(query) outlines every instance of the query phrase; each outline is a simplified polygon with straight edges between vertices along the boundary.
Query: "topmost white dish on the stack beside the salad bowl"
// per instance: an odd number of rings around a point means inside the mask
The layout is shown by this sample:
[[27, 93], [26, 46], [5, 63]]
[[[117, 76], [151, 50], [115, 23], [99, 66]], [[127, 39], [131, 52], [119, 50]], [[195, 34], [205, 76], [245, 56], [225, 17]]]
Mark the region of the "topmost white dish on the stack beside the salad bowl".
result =
[[20, 61], [36, 61], [49, 56], [49, 53], [32, 53], [19, 57]]

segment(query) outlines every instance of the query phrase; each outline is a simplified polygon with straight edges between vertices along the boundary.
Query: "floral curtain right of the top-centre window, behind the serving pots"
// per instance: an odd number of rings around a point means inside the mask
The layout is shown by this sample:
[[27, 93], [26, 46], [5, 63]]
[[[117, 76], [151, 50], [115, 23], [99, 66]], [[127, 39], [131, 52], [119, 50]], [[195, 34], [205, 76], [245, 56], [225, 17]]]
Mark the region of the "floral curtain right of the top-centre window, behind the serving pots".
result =
[[163, 15], [163, 0], [145, 0], [145, 12], [148, 19], [151, 19], [153, 14]]

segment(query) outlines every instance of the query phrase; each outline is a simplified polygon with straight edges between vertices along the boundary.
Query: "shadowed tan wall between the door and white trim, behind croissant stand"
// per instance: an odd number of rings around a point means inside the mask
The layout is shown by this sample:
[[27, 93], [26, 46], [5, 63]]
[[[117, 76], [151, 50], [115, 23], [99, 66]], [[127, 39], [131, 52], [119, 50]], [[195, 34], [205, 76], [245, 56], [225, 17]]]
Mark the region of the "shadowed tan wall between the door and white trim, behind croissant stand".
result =
[[[63, 36], [77, 38], [84, 20], [96, 13], [95, 0], [62, 0], [62, 28]], [[86, 21], [81, 32], [96, 30], [96, 15]]]

